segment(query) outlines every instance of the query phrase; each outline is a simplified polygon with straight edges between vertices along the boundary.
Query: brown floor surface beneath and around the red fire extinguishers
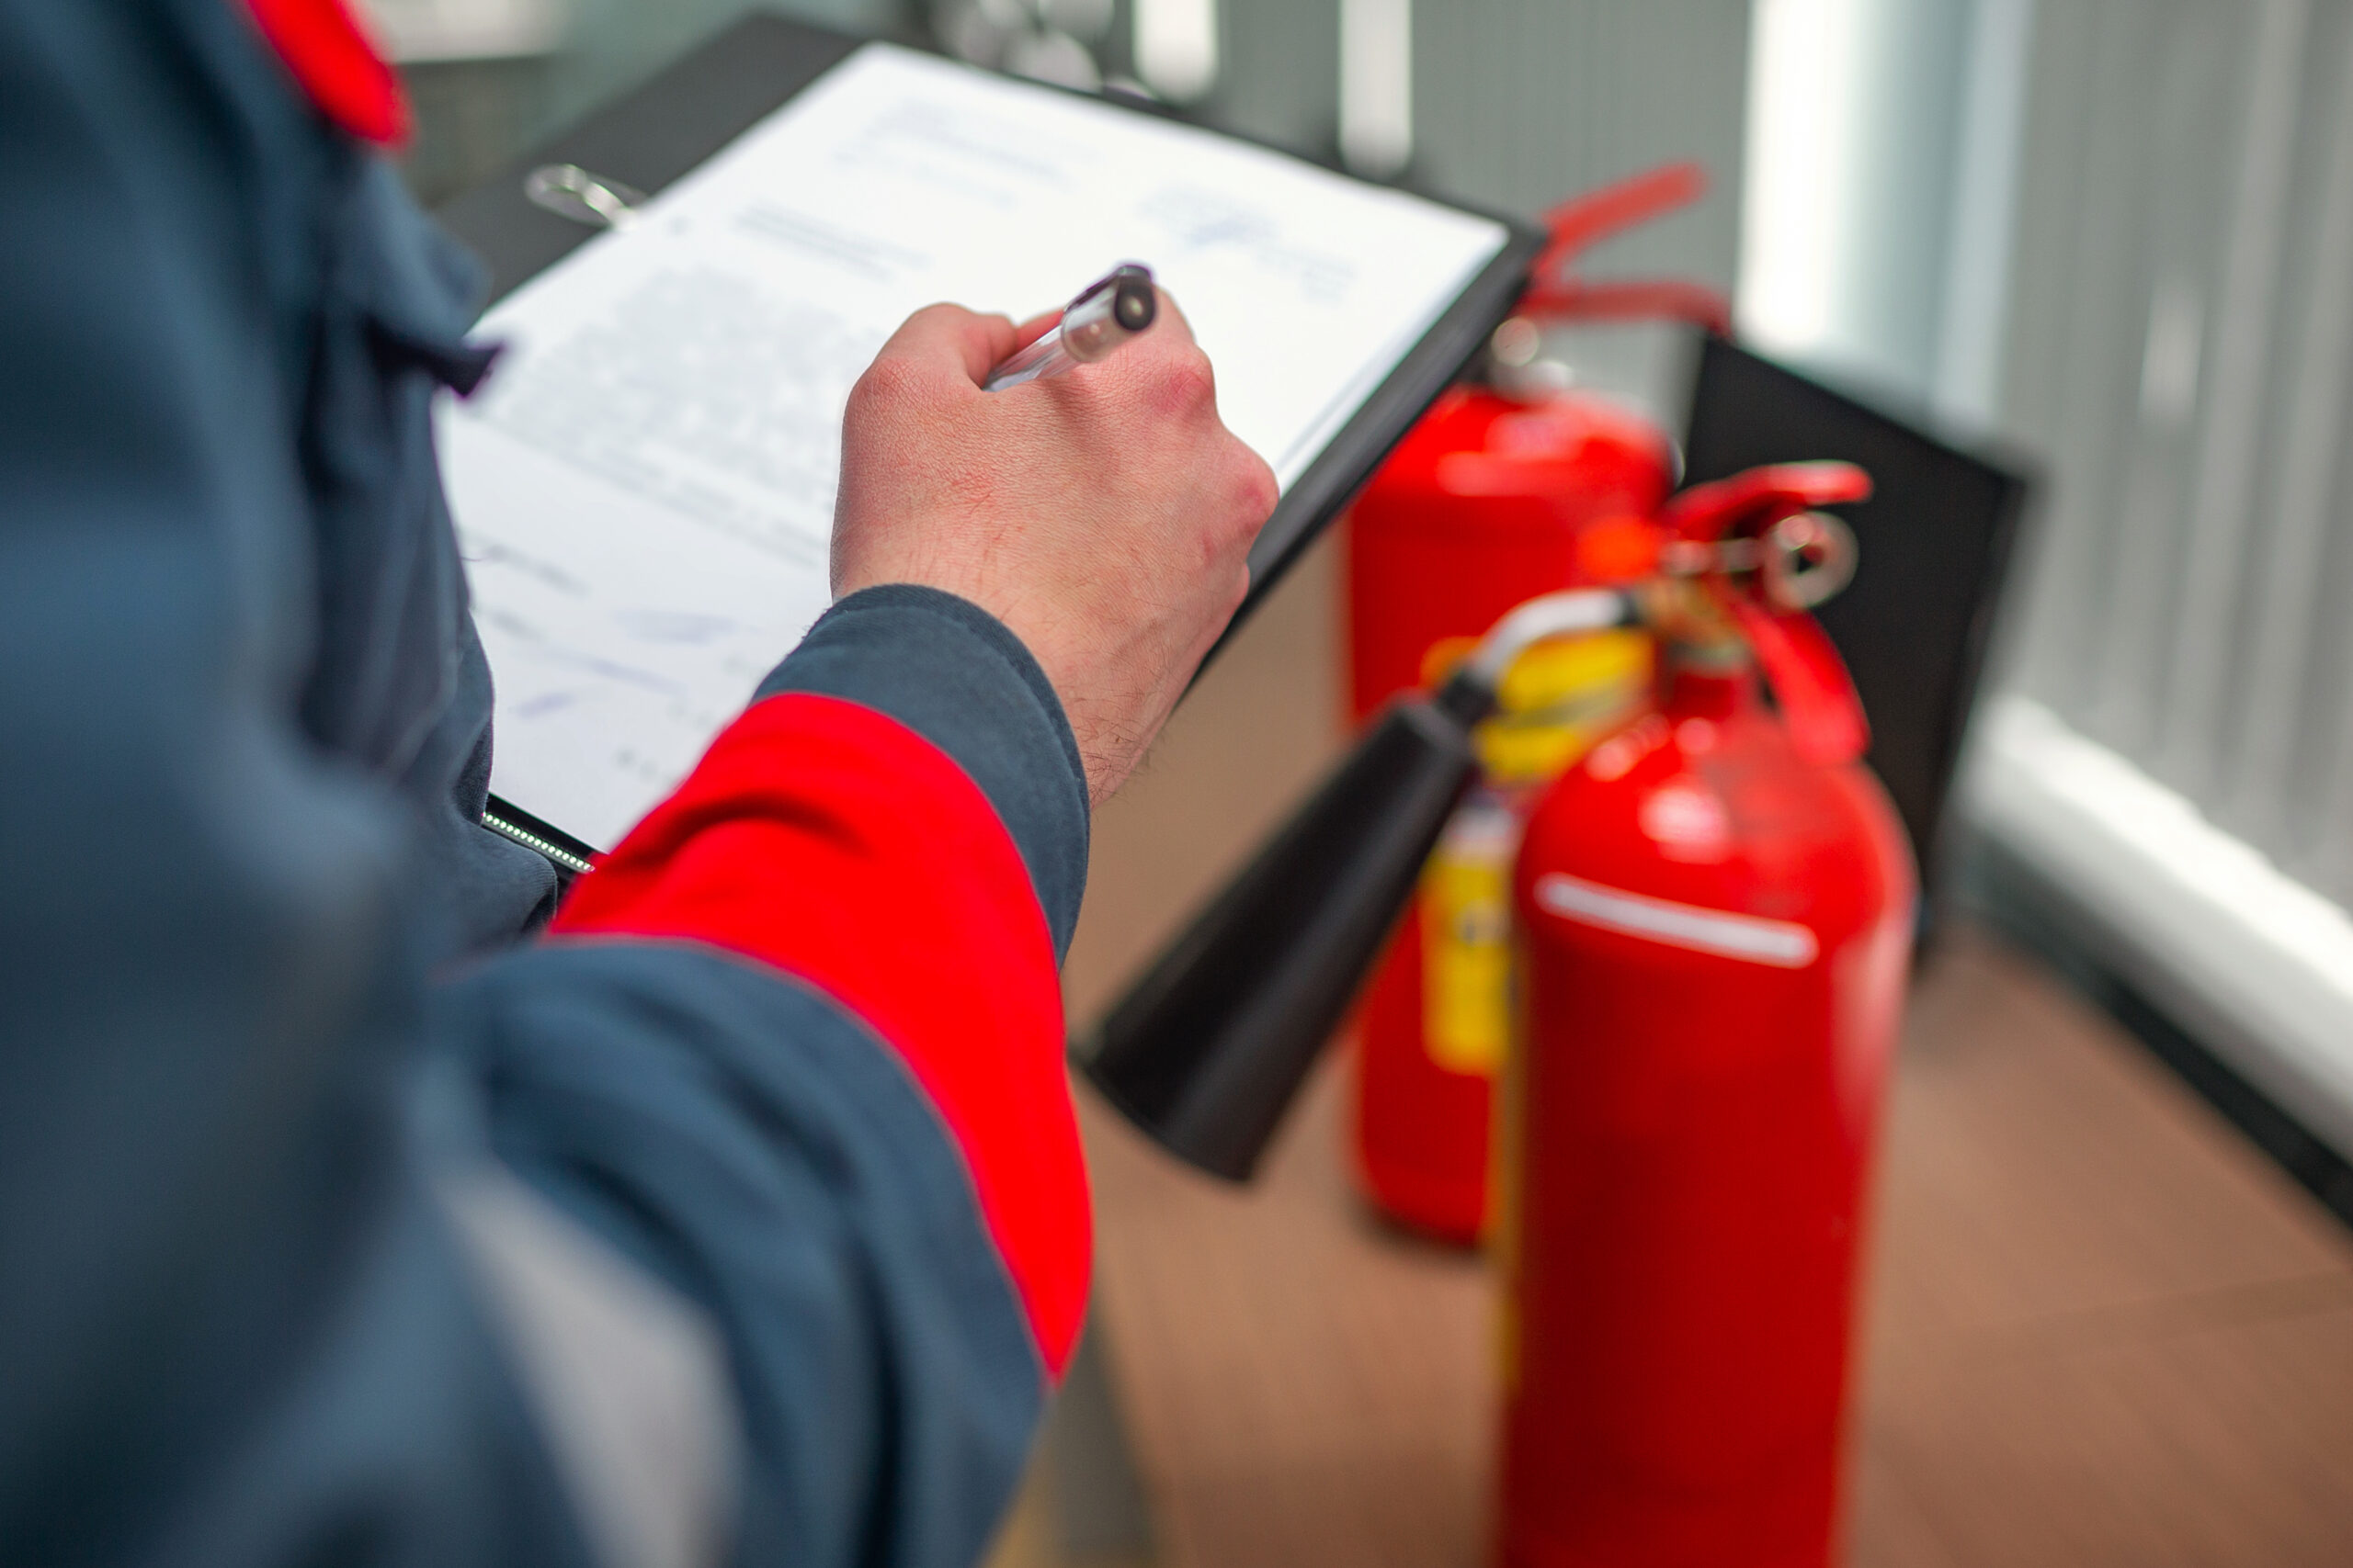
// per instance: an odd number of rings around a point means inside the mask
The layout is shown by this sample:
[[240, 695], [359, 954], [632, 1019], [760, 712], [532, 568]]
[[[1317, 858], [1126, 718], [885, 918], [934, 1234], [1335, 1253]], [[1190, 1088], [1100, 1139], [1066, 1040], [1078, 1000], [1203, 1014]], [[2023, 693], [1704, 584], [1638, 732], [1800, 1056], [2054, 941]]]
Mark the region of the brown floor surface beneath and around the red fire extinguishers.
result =
[[[1073, 1016], [1337, 748], [1332, 557], [1104, 813]], [[1099, 1347], [1167, 1568], [1482, 1559], [1489, 1286], [1372, 1225], [1325, 1074], [1259, 1187], [1089, 1107]], [[1033, 1497], [1000, 1563], [1056, 1563]], [[1880, 1190], [1854, 1568], [2353, 1563], [2353, 1241], [2031, 959], [1915, 987]]]

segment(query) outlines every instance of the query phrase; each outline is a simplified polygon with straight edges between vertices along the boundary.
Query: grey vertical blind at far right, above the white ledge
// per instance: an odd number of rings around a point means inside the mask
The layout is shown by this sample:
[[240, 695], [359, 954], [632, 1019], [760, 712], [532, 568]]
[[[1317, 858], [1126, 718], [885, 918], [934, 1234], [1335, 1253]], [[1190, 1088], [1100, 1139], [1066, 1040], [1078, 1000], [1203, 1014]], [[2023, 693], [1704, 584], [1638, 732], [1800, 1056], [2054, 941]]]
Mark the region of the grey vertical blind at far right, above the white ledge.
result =
[[2017, 689], [2353, 900], [2353, 5], [2042, 0]]

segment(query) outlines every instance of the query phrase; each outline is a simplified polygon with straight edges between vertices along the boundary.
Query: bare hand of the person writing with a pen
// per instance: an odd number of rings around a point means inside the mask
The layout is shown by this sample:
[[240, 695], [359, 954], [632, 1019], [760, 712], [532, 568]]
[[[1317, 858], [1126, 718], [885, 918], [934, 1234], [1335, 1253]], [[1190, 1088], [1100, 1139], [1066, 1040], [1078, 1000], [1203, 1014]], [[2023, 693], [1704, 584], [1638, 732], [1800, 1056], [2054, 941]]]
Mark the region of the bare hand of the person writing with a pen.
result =
[[833, 592], [922, 583], [1012, 628], [1099, 804], [1242, 604], [1275, 475], [1217, 418], [1209, 360], [1165, 294], [1108, 360], [984, 393], [1031, 336], [932, 306], [882, 346], [842, 421]]

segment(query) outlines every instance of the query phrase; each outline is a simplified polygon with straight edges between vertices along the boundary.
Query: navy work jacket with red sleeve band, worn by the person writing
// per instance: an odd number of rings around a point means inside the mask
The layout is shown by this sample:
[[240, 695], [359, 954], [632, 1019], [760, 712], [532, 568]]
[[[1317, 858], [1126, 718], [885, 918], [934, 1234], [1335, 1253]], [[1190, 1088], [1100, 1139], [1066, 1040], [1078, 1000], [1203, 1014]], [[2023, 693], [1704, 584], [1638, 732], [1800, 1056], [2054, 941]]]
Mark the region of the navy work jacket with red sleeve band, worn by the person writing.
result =
[[852, 597], [558, 912], [473, 289], [238, 0], [0, 0], [0, 1561], [967, 1563], [1087, 1281], [1071, 731]]

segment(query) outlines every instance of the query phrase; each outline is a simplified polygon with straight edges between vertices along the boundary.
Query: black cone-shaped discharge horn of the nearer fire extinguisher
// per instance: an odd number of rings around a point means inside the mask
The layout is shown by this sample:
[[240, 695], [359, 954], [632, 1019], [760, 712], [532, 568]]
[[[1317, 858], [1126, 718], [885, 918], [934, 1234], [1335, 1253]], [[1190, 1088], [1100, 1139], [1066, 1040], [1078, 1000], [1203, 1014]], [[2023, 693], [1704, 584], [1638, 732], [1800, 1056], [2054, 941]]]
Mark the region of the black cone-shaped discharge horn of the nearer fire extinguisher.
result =
[[1471, 783], [1489, 701], [1466, 675], [1393, 705], [1078, 1041], [1104, 1098], [1172, 1154], [1257, 1171]]

